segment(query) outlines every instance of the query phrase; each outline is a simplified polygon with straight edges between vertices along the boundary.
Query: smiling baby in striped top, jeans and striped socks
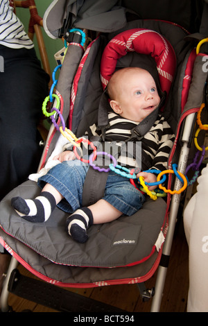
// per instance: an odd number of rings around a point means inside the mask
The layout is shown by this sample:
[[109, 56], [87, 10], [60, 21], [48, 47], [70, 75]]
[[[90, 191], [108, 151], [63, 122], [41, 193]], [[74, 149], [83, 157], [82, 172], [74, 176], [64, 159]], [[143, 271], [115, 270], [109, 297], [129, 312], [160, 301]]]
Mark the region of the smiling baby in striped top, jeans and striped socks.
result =
[[[153, 112], [160, 103], [155, 80], [151, 74], [141, 68], [124, 68], [116, 71], [107, 85], [110, 96], [109, 112], [110, 132], [119, 131], [119, 140], [126, 139], [130, 130]], [[116, 121], [116, 122], [115, 122]], [[129, 130], [123, 132], [123, 123]], [[91, 128], [91, 131], [95, 128]], [[97, 135], [94, 131], [93, 135]], [[106, 132], [107, 135], [107, 132]], [[116, 137], [116, 136], [115, 136]], [[167, 169], [168, 153], [173, 146], [174, 135], [164, 117], [158, 117], [154, 126], [142, 139], [142, 146], [151, 162], [151, 169]], [[67, 232], [73, 239], [85, 243], [88, 239], [87, 228], [92, 224], [114, 221], [125, 214], [135, 214], [145, 201], [144, 194], [131, 185], [128, 178], [110, 171], [103, 198], [94, 205], [82, 207], [83, 184], [89, 165], [76, 160], [72, 151], [60, 153], [56, 160], [61, 164], [54, 166], [38, 180], [42, 188], [40, 196], [31, 199], [12, 198], [12, 207], [19, 216], [31, 222], [46, 221], [56, 205], [70, 213], [67, 218]], [[132, 168], [135, 166], [132, 166]], [[137, 178], [144, 177], [145, 182], [155, 182], [154, 173], [140, 172]], [[157, 186], [149, 187], [150, 191]]]

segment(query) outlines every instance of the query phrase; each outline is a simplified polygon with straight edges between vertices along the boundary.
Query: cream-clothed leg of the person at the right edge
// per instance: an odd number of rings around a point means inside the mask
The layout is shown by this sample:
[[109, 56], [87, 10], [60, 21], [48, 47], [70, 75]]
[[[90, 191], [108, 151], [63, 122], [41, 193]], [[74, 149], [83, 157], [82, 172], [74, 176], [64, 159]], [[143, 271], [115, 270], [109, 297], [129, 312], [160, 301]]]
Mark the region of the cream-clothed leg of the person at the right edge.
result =
[[208, 164], [197, 181], [197, 192], [184, 210], [184, 231], [189, 245], [187, 312], [208, 312]]

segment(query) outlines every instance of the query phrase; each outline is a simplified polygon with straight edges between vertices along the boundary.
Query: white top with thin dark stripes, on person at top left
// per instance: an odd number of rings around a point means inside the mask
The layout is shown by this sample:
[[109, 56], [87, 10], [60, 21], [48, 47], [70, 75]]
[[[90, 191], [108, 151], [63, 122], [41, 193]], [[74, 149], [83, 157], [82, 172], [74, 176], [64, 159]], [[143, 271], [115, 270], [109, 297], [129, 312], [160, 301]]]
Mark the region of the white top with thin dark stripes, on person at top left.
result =
[[12, 49], [32, 49], [33, 42], [9, 4], [8, 0], [0, 0], [0, 44]]

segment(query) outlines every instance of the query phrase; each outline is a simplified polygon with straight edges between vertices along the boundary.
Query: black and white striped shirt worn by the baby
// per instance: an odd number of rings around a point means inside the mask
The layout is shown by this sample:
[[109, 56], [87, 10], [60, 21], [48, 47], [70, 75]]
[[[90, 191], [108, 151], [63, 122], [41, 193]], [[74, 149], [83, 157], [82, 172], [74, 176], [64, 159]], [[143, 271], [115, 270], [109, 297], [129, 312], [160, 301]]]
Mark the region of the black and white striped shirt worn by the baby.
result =
[[[118, 146], [122, 144], [122, 141], [125, 141], [131, 136], [130, 130], [138, 124], [135, 121], [122, 118], [114, 112], [110, 112], [108, 118], [109, 128], [106, 130], [105, 141], [120, 141]], [[92, 136], [101, 136], [101, 132], [97, 130], [95, 124], [89, 128], [89, 139]], [[150, 128], [149, 132], [141, 140], [141, 166], [138, 166], [138, 160], [135, 160], [135, 158], [128, 157], [128, 160], [126, 160], [126, 157], [122, 157], [122, 155], [119, 157], [118, 162], [132, 168], [139, 167], [141, 170], [157, 169], [164, 171], [168, 169], [168, 155], [173, 146], [174, 139], [175, 135], [168, 122], [164, 117], [158, 115], [152, 128]], [[147, 161], [148, 164], [146, 164]]]

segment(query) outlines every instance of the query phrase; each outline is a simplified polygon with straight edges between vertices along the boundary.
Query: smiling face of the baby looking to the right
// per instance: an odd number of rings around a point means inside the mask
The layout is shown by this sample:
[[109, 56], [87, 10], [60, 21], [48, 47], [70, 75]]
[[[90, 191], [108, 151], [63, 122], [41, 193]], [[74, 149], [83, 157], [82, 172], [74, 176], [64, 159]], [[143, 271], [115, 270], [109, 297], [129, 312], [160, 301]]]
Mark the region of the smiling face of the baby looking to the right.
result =
[[159, 105], [155, 80], [146, 70], [126, 71], [116, 86], [116, 110], [125, 119], [141, 122]]

